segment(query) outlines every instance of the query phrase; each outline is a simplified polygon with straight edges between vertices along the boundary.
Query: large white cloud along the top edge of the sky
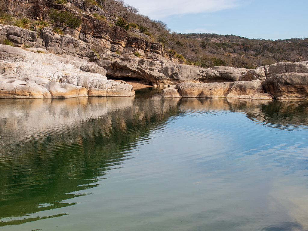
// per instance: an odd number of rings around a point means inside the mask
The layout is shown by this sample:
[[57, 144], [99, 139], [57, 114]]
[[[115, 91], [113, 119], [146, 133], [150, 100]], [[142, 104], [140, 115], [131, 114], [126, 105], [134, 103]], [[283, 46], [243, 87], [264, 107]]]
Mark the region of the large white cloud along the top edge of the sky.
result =
[[239, 6], [239, 0], [124, 0], [140, 14], [159, 19], [175, 14], [215, 12]]

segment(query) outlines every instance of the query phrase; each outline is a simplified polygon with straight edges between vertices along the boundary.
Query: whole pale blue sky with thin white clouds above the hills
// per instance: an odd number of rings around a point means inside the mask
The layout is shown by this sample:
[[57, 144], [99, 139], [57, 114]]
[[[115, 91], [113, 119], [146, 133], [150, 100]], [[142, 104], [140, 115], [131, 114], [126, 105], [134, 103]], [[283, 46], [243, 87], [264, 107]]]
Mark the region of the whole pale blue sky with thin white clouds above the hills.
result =
[[177, 33], [308, 38], [307, 0], [124, 0]]

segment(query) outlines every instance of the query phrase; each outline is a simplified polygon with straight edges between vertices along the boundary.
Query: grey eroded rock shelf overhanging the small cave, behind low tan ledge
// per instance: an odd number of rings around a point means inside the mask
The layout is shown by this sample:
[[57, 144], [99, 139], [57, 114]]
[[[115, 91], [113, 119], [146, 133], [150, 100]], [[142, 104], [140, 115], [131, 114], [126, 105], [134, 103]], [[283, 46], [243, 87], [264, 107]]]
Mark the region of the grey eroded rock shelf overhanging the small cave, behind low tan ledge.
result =
[[170, 86], [181, 82], [233, 82], [237, 81], [248, 69], [234, 67], [214, 67], [205, 69], [196, 66], [173, 63], [161, 55], [153, 59], [143, 59], [120, 55], [118, 60], [102, 60], [107, 76], [116, 78], [137, 78], [153, 86]]

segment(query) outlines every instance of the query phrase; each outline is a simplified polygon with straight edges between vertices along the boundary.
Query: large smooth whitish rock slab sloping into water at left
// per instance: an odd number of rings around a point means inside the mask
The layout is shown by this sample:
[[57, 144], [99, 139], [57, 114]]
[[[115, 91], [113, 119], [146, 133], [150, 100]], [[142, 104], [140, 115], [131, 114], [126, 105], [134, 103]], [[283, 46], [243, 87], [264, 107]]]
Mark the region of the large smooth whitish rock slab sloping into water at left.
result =
[[135, 95], [132, 85], [107, 80], [104, 73], [96, 63], [70, 55], [0, 45], [0, 98]]

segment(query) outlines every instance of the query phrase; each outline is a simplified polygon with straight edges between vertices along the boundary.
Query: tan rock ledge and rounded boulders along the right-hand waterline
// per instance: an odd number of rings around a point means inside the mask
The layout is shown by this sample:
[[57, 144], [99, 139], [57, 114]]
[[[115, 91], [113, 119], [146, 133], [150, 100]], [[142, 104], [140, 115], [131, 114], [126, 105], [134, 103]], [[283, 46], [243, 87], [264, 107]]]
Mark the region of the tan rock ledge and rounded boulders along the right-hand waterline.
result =
[[308, 99], [307, 63], [281, 62], [258, 67], [231, 83], [179, 83], [165, 89], [163, 97]]

